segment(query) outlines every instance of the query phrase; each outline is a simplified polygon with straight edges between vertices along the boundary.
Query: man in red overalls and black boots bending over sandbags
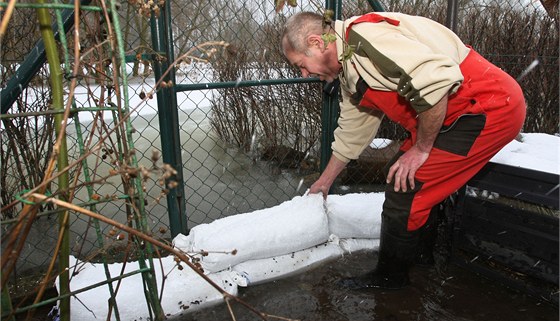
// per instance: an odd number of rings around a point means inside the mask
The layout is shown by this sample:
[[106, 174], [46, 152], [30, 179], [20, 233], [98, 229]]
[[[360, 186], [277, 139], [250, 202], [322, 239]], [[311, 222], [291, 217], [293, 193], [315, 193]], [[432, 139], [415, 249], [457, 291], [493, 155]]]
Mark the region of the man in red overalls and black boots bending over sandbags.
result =
[[304, 77], [340, 80], [333, 156], [311, 193], [326, 197], [337, 175], [374, 138], [382, 117], [409, 133], [387, 165], [379, 260], [352, 288], [401, 288], [432, 208], [463, 186], [519, 133], [519, 85], [445, 26], [400, 13], [325, 23], [302, 12], [285, 25], [282, 49]]

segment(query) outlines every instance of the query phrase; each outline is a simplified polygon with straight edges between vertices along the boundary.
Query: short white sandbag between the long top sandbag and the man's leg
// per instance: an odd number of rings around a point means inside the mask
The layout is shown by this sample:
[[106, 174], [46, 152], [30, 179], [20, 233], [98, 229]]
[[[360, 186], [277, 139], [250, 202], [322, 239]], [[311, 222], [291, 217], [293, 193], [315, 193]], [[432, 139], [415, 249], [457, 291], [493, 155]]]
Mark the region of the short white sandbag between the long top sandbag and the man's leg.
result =
[[383, 193], [329, 195], [329, 231], [339, 238], [379, 238]]

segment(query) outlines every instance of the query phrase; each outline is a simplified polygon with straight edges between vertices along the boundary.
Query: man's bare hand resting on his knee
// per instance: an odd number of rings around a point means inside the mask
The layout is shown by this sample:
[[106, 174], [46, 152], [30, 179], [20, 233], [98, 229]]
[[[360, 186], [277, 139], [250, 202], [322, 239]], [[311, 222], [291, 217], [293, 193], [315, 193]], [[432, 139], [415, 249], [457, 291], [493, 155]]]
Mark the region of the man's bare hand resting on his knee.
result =
[[418, 147], [412, 146], [389, 169], [387, 184], [391, 183], [394, 179], [395, 192], [400, 190], [406, 192], [408, 186], [414, 189], [414, 175], [416, 175], [416, 171], [424, 164], [429, 155], [430, 153], [422, 152]]

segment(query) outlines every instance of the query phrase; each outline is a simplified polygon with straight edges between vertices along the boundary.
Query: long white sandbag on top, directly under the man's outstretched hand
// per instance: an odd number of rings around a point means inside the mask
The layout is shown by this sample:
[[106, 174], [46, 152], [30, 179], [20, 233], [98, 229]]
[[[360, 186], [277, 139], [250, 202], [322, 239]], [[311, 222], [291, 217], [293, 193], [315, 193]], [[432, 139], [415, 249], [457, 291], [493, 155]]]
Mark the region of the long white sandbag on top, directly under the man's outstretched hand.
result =
[[[296, 252], [329, 236], [322, 196], [296, 196], [272, 208], [218, 219], [173, 240], [176, 248], [200, 256], [202, 268], [217, 272], [248, 260]], [[236, 254], [231, 252], [235, 250]]]

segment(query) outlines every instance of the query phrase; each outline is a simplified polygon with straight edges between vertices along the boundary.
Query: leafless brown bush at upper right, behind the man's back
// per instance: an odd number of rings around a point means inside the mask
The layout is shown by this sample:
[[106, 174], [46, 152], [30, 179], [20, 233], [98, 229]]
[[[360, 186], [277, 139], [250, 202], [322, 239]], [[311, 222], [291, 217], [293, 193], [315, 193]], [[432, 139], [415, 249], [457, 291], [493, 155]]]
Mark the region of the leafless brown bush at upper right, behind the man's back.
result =
[[[459, 35], [521, 85], [527, 101], [524, 132], [558, 133], [558, 29], [546, 14], [465, 11]], [[484, 32], [481, 32], [484, 31]]]

